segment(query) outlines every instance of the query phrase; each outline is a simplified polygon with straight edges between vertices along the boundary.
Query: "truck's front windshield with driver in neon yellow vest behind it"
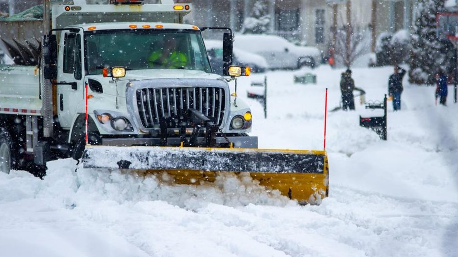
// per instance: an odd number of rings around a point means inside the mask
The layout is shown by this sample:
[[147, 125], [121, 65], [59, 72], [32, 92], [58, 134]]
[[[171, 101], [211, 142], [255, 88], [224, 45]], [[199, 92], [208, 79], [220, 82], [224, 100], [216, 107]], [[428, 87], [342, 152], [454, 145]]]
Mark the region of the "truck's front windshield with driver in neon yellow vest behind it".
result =
[[211, 73], [199, 31], [129, 29], [85, 32], [85, 72], [104, 67], [127, 70], [184, 69]]

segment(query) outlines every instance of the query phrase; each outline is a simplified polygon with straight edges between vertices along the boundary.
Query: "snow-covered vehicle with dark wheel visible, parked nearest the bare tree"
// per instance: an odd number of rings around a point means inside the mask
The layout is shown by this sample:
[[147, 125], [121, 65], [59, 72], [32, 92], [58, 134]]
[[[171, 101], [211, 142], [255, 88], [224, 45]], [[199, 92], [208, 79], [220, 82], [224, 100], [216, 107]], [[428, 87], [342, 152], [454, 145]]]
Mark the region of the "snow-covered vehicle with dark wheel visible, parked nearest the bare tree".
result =
[[234, 47], [262, 55], [272, 70], [315, 68], [321, 59], [318, 48], [296, 46], [273, 35], [236, 35]]

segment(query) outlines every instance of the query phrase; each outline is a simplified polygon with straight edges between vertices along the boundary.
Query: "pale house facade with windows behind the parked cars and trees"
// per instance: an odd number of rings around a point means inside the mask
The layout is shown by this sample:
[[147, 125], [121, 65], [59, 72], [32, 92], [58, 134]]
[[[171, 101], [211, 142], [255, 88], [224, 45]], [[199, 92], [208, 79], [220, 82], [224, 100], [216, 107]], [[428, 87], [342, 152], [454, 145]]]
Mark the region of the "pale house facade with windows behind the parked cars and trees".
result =
[[[240, 31], [245, 17], [259, 0], [181, 0], [191, 2], [194, 11], [188, 16], [200, 26], [230, 27]], [[350, 17], [353, 26], [371, 34], [374, 50], [376, 37], [382, 32], [396, 32], [412, 27], [415, 0], [263, 0], [271, 22], [268, 33], [304, 45], [326, 50], [334, 27]]]

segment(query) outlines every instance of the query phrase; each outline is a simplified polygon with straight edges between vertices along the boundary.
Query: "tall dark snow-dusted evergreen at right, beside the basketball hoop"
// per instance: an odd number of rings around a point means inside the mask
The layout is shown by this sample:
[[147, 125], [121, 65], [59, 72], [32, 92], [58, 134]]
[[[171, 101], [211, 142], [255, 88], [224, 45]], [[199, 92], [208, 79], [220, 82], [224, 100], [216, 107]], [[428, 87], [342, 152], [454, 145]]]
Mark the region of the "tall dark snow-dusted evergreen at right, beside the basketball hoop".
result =
[[447, 70], [447, 43], [436, 36], [436, 14], [444, 11], [443, 0], [419, 0], [412, 33], [409, 81], [434, 84], [435, 74]]

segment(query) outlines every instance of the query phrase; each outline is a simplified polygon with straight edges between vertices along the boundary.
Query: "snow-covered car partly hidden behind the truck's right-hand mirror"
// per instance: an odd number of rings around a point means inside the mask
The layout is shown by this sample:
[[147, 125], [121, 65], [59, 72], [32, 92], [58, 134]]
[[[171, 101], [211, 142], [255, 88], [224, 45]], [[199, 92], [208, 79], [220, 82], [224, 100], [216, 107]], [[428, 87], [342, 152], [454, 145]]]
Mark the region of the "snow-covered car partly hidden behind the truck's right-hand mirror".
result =
[[[205, 40], [205, 47], [213, 72], [223, 75], [223, 41]], [[267, 61], [259, 54], [234, 47], [233, 58], [234, 65], [250, 66], [251, 72], [265, 72], [267, 70]]]

